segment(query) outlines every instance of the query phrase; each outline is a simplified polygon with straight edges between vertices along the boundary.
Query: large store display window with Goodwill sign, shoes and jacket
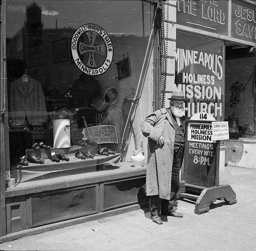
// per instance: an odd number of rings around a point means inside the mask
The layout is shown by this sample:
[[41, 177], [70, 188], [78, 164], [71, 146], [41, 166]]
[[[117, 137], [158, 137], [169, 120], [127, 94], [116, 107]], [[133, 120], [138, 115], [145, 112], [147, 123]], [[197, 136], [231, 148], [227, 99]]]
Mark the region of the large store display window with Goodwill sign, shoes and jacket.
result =
[[138, 125], [153, 109], [155, 4], [8, 0], [6, 9], [11, 170], [145, 152]]

